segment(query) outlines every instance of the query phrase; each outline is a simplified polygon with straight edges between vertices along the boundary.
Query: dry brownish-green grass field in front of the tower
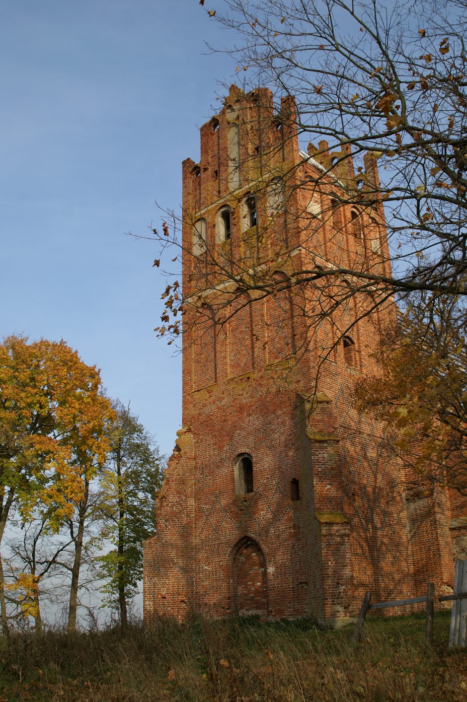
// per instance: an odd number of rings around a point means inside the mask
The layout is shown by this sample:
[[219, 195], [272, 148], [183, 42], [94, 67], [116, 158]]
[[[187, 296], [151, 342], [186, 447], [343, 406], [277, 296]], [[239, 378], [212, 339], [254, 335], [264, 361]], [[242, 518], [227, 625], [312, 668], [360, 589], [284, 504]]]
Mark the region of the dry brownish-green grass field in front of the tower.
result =
[[463, 701], [467, 652], [448, 651], [449, 612], [369, 618], [353, 626], [255, 619], [183, 625], [160, 621], [67, 636], [50, 631], [0, 639], [0, 701]]

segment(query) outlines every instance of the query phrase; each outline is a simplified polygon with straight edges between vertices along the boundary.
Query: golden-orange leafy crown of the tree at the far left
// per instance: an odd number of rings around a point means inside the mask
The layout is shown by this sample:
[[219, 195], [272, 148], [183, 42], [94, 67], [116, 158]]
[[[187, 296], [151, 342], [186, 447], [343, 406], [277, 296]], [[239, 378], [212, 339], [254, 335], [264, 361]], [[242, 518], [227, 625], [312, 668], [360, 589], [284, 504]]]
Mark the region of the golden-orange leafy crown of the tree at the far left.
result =
[[[113, 416], [100, 388], [98, 369], [64, 341], [9, 336], [0, 345], [0, 546], [13, 509], [27, 520], [39, 508], [58, 531], [82, 508]], [[0, 605], [6, 630], [1, 557]]]

